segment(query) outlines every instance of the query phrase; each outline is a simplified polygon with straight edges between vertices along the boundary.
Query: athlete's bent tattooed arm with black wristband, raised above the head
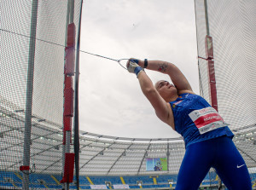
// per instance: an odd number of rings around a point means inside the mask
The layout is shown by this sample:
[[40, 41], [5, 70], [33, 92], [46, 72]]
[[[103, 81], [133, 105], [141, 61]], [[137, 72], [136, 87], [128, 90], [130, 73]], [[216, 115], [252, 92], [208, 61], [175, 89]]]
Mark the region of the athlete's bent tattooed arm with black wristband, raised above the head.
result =
[[[143, 67], [144, 60], [139, 60], [138, 64]], [[183, 72], [181, 72], [174, 64], [162, 60], [148, 60], [147, 69], [168, 74], [172, 83], [176, 86], [178, 94], [195, 94], [189, 81], [183, 75]]]

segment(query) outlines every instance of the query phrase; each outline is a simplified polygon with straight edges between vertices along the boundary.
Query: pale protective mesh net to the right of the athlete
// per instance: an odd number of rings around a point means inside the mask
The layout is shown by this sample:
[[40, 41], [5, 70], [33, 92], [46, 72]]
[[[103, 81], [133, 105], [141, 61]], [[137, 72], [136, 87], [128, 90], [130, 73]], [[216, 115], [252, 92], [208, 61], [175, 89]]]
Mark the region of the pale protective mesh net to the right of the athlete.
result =
[[[195, 17], [198, 55], [203, 58], [208, 18], [218, 112], [230, 124], [235, 134], [233, 141], [252, 173], [256, 166], [256, 2], [195, 0]], [[198, 64], [201, 95], [210, 102], [207, 60], [199, 58]]]

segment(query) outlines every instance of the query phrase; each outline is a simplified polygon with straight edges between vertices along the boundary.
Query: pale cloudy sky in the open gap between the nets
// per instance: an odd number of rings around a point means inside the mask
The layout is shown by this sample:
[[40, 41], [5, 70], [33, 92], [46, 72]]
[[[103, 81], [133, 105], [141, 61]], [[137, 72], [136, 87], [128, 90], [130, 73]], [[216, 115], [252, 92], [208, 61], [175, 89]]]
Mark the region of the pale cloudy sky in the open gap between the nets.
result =
[[[176, 64], [199, 94], [195, 9], [191, 0], [87, 0], [81, 50], [113, 59]], [[169, 79], [146, 71], [153, 83]], [[131, 138], [179, 136], [154, 114], [134, 74], [113, 60], [80, 54], [80, 130]]]

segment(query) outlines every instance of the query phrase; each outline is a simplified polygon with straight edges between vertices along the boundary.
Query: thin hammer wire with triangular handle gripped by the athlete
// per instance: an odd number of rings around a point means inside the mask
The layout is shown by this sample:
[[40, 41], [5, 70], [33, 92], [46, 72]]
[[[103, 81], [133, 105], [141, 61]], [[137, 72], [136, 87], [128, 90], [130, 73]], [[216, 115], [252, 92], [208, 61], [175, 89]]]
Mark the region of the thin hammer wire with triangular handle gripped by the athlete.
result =
[[[0, 28], [0, 31], [9, 32], [9, 33], [12, 33], [12, 34], [21, 36], [21, 37], [33, 38], [33, 37], [26, 36], [25, 34], [20, 34], [20, 33], [17, 33], [17, 32], [11, 32], [11, 31], [8, 31], [8, 30], [4, 30], [4, 29], [2, 29], [2, 28]], [[53, 45], [61, 46], [61, 47], [63, 47], [63, 48], [66, 47], [65, 45], [61, 45], [61, 44], [59, 44], [59, 43], [52, 43], [52, 42], [49, 42], [49, 41], [44, 40], [44, 39], [39, 39], [39, 38], [37, 38], [37, 37], [36, 37], [36, 40], [41, 41], [41, 42], [44, 42], [44, 43], [50, 43], [50, 44], [53, 44]], [[77, 50], [77, 49], [75, 49], [75, 50]], [[106, 56], [103, 56], [103, 55], [92, 54], [92, 53], [87, 52], [87, 51], [84, 51], [84, 50], [79, 50], [79, 51], [82, 52], [82, 53], [88, 54], [88, 55], [94, 55], [94, 56], [101, 57], [101, 58], [103, 58], [103, 59], [108, 59], [108, 60], [116, 61], [116, 62], [119, 63], [119, 66], [122, 66], [121, 63], [120, 63], [121, 60], [129, 60], [129, 59], [119, 59], [119, 60], [115, 60], [115, 59], [113, 59], [113, 58], [106, 57]], [[127, 70], [127, 69], [125, 68], [125, 66], [122, 66], [122, 67], [123, 67], [125, 70]]]

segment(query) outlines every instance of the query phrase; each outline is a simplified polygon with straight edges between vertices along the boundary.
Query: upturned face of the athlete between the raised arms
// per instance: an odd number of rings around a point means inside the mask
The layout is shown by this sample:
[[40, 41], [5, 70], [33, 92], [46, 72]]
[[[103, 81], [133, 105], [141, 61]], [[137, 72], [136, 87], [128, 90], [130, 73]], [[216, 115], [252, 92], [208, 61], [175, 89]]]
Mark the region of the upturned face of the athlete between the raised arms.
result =
[[173, 95], [177, 95], [176, 87], [168, 81], [160, 80], [154, 84], [154, 87], [165, 100], [168, 100]]

